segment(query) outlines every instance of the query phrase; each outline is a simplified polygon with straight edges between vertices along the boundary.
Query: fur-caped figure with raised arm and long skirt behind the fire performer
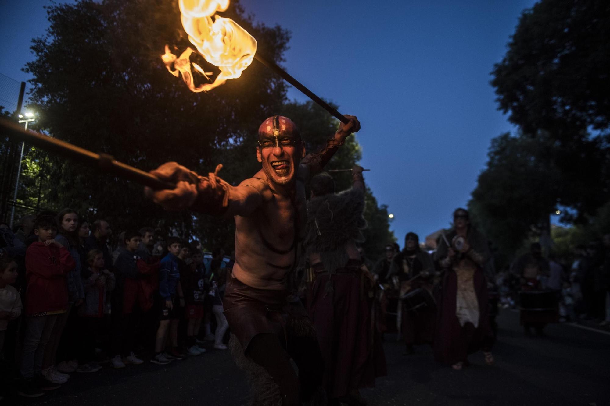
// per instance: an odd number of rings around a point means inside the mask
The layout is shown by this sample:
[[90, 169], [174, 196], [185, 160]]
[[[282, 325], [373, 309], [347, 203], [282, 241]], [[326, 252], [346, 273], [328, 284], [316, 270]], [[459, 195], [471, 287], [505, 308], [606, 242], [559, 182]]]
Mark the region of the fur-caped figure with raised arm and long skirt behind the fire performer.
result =
[[386, 374], [376, 335], [373, 277], [362, 265], [356, 243], [364, 241], [362, 167], [352, 169], [353, 187], [335, 194], [329, 174], [310, 183], [306, 249], [312, 292], [308, 303], [325, 361], [324, 386], [331, 404], [362, 404], [358, 389], [375, 385]]

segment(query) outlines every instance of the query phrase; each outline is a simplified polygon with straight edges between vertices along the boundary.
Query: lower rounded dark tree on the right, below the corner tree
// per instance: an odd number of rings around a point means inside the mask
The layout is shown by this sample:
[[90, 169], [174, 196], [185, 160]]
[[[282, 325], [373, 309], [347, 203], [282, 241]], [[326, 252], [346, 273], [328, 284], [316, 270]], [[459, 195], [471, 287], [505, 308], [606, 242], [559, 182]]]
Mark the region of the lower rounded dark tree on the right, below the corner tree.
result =
[[591, 151], [578, 155], [548, 137], [492, 140], [468, 205], [501, 254], [511, 256], [525, 238], [539, 235], [558, 205], [570, 208], [563, 221], [584, 223], [604, 203], [607, 183], [599, 175], [606, 158], [597, 141], [587, 141]]

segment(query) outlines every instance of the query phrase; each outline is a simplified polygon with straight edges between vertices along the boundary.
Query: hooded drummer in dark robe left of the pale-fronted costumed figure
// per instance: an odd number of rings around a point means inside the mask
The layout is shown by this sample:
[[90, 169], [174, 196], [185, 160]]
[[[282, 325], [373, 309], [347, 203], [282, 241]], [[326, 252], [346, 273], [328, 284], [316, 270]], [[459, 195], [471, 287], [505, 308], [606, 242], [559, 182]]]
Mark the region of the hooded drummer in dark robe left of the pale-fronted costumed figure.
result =
[[404, 249], [393, 258], [390, 275], [398, 277], [399, 297], [404, 297], [399, 299], [402, 310], [400, 331], [406, 345], [405, 355], [411, 355], [414, 345], [432, 344], [436, 319], [436, 305], [432, 298], [434, 262], [431, 255], [420, 248], [417, 234], [410, 232], [404, 237]]

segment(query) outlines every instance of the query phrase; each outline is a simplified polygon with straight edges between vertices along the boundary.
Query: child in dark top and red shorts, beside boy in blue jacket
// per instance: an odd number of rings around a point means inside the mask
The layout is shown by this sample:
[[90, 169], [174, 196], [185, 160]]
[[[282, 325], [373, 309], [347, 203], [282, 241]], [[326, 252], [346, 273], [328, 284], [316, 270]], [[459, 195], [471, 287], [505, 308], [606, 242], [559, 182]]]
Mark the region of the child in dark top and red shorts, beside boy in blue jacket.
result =
[[191, 263], [181, 273], [181, 285], [186, 302], [187, 322], [187, 351], [188, 355], [199, 355], [206, 349], [197, 346], [196, 337], [201, 327], [201, 319], [204, 313], [204, 299], [206, 298], [206, 266], [203, 265], [203, 253], [198, 249], [192, 249], [190, 255]]

